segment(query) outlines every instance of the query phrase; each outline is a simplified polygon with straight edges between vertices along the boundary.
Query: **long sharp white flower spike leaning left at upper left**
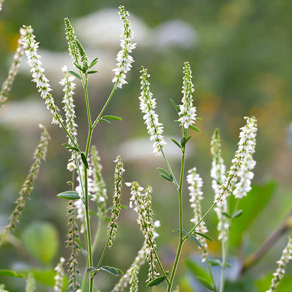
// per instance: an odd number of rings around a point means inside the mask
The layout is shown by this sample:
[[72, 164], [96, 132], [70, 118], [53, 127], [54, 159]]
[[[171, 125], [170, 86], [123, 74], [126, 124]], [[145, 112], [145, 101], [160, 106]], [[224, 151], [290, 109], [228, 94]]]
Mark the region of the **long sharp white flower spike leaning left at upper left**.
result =
[[[58, 107], [55, 105], [55, 101], [52, 95], [49, 93], [52, 89], [49, 84], [49, 79], [45, 77], [44, 71], [45, 69], [41, 67], [42, 62], [40, 61], [41, 56], [37, 54], [39, 43], [36, 43], [35, 36], [32, 34], [31, 26], [24, 26], [25, 30], [23, 30], [22, 34], [22, 45], [24, 49], [26, 49], [26, 55], [28, 57], [28, 62], [32, 67], [31, 72], [33, 72], [33, 80], [37, 83], [37, 88], [39, 88], [39, 92], [41, 92], [41, 96], [45, 99], [45, 103], [47, 104], [47, 109], [51, 111], [53, 115], [54, 124], [60, 124], [60, 121], [63, 122], [62, 117], [57, 114], [57, 111], [60, 111]], [[62, 125], [60, 124], [60, 127]]]

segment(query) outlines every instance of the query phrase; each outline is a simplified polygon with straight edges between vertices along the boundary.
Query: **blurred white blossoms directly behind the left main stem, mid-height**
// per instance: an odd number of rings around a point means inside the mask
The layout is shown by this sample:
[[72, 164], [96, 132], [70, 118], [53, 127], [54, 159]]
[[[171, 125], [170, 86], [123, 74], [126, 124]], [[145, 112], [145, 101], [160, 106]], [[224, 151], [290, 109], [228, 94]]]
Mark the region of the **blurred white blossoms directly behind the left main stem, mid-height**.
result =
[[[90, 159], [88, 158], [87, 159], [88, 162], [90, 161]], [[79, 163], [79, 166], [80, 166], [80, 173], [81, 173], [81, 177], [78, 175], [77, 177], [77, 181], [78, 181], [78, 186], [76, 186], [75, 190], [79, 193], [79, 195], [81, 197], [83, 197], [83, 191], [82, 191], [82, 188], [84, 188], [84, 164], [82, 162], [82, 160], [80, 159], [80, 163]], [[89, 169], [87, 171], [87, 174], [88, 174], [88, 178], [87, 178], [87, 182], [88, 182], [88, 195], [93, 195], [94, 193], [94, 185], [93, 185], [93, 180], [91, 178], [92, 176], [92, 167], [89, 166]], [[94, 195], [93, 195], [94, 196]], [[93, 199], [91, 200], [95, 200], [95, 196]], [[81, 230], [80, 230], [80, 233], [84, 233], [84, 230], [86, 228], [86, 214], [85, 214], [85, 205], [82, 201], [82, 199], [79, 199], [79, 200], [76, 200], [74, 201], [74, 205], [75, 207], [77, 208], [77, 216], [76, 218], [79, 218], [80, 221], [81, 221]]]

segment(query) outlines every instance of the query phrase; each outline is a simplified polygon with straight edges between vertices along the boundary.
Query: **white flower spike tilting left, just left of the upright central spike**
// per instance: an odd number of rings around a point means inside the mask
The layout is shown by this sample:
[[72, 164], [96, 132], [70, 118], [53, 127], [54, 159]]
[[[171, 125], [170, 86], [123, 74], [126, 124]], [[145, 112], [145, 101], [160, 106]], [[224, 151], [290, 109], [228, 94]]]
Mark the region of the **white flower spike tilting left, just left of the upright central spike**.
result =
[[150, 134], [150, 140], [154, 141], [153, 143], [153, 152], [157, 155], [162, 155], [162, 148], [166, 143], [163, 140], [163, 127], [162, 124], [158, 122], [158, 115], [155, 114], [155, 111], [153, 110], [156, 107], [155, 98], [152, 98], [152, 93], [149, 89], [149, 81], [147, 78], [150, 77], [150, 75], [147, 73], [147, 69], [144, 69], [142, 66], [142, 70], [140, 71], [142, 73], [140, 79], [141, 81], [141, 96], [140, 99], [140, 110], [142, 113], [145, 113], [143, 119], [145, 120], [145, 124], [147, 125], [148, 133]]

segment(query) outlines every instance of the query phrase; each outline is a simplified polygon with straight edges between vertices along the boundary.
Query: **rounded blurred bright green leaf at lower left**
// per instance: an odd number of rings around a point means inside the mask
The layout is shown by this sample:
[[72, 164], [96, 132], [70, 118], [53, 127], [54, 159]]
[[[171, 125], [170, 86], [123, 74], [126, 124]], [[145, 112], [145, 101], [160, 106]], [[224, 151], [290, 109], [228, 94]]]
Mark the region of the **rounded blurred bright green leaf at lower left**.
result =
[[52, 223], [33, 222], [23, 230], [21, 238], [31, 254], [41, 262], [51, 263], [58, 251], [58, 231]]

